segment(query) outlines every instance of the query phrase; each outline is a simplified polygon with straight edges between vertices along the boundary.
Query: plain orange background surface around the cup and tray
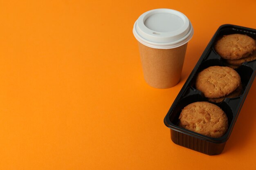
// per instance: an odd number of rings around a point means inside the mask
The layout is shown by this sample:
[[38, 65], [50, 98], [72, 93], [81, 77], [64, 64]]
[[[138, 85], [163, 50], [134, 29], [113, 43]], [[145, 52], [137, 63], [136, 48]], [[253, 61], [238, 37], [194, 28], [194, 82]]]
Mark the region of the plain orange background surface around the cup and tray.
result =
[[[182, 79], [148, 86], [132, 27], [170, 8], [193, 24]], [[256, 81], [221, 155], [173, 144], [164, 116], [222, 24], [256, 29], [255, 0], [0, 2], [0, 170], [253, 170]]]

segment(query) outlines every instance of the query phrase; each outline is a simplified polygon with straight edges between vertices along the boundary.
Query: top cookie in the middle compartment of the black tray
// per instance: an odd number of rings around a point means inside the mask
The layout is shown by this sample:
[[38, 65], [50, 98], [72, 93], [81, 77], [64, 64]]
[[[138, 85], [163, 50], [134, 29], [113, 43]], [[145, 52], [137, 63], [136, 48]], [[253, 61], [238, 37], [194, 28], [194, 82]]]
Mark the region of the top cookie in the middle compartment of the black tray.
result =
[[210, 66], [200, 73], [195, 81], [195, 88], [207, 98], [229, 95], [240, 85], [240, 75], [230, 67]]

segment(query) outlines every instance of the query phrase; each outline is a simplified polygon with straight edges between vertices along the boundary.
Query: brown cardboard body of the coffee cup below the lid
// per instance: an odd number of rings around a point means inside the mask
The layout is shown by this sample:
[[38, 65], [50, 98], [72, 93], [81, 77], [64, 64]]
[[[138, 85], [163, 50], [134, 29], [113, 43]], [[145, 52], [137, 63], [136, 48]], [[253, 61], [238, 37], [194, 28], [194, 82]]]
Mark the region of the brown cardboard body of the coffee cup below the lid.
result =
[[139, 53], [148, 85], [171, 88], [179, 81], [186, 54], [187, 43], [173, 49], [154, 49], [139, 42]]

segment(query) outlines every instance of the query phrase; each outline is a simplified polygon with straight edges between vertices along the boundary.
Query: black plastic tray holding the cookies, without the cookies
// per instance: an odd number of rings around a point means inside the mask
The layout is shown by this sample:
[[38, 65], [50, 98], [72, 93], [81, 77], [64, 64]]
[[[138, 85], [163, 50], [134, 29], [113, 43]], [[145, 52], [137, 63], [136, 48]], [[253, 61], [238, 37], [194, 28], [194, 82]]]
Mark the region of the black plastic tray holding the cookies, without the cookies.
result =
[[243, 84], [242, 95], [235, 98], [225, 98], [221, 103], [211, 102], [219, 106], [228, 117], [229, 126], [225, 135], [220, 138], [212, 138], [186, 130], [177, 124], [180, 112], [185, 106], [193, 102], [207, 101], [202, 92], [195, 89], [195, 78], [197, 73], [204, 68], [209, 66], [225, 66], [225, 61], [216, 53], [213, 46], [216, 40], [222, 35], [234, 33], [246, 34], [256, 40], [255, 29], [231, 24], [225, 24], [219, 27], [164, 118], [164, 124], [171, 129], [171, 139], [175, 144], [207, 155], [220, 154], [224, 149], [252, 82], [254, 81], [256, 75], [256, 60], [244, 62], [239, 68], [235, 69], [239, 73]]

